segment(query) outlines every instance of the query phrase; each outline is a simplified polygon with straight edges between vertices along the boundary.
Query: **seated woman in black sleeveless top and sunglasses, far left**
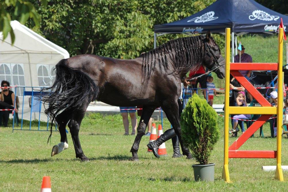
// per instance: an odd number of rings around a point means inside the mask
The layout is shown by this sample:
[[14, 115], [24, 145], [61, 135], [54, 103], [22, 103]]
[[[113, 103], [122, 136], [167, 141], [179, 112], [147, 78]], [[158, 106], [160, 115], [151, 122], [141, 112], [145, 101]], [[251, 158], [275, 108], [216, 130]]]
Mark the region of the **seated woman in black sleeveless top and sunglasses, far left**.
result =
[[[3, 80], [1, 82], [1, 89], [0, 92], [0, 109], [14, 109], [14, 98], [15, 94], [13, 91], [10, 91], [10, 83], [8, 81]], [[15, 106], [15, 112], [18, 113], [18, 110]], [[2, 119], [4, 127], [8, 127], [7, 123], [9, 120], [9, 113], [12, 113], [12, 111], [0, 111], [0, 126], [2, 126]]]

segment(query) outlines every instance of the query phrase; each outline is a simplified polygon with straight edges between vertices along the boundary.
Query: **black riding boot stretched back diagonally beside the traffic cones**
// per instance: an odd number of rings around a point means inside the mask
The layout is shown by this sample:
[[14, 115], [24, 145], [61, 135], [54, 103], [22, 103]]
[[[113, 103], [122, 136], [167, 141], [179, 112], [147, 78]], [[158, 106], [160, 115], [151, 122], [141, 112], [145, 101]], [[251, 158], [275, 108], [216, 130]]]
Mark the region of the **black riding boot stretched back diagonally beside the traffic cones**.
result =
[[168, 129], [162, 135], [160, 135], [160, 137], [157, 140], [155, 140], [153, 142], [149, 142], [147, 147], [152, 150], [155, 157], [160, 158], [160, 156], [158, 155], [159, 146], [162, 143], [164, 143], [165, 141], [167, 141], [167, 140], [169, 140], [175, 136], [176, 136], [176, 133], [175, 133], [174, 129]]

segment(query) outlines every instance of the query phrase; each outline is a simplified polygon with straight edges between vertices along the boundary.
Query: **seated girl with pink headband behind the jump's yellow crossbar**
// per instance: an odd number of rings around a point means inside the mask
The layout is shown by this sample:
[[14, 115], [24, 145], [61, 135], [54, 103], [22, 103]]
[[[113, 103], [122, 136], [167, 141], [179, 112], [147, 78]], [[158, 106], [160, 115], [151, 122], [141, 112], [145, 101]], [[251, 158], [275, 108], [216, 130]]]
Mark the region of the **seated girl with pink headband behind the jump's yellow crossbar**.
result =
[[[244, 92], [242, 92], [242, 91], [238, 92], [235, 100], [236, 100], [237, 106], [240, 106], [240, 107], [246, 107], [247, 106]], [[240, 115], [234, 115], [233, 118], [234, 118], [233, 119], [233, 128], [232, 128], [232, 130], [229, 131], [229, 133], [233, 133], [231, 137], [233, 137], [234, 134], [239, 131], [239, 128], [237, 127], [238, 126], [238, 119], [249, 119], [249, 118], [251, 118], [251, 115], [240, 114]], [[241, 130], [242, 130], [242, 133], [245, 132], [244, 127], [241, 127]]]

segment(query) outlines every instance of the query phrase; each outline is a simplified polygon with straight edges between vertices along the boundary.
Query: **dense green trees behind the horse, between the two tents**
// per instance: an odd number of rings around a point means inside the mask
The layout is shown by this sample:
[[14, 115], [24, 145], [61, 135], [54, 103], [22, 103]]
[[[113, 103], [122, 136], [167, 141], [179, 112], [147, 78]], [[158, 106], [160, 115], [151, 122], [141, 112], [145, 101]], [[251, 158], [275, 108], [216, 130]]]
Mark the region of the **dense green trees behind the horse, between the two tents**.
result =
[[[40, 28], [33, 28], [50, 41], [77, 54], [131, 59], [153, 49], [153, 26], [180, 20], [215, 0], [53, 0], [41, 7]], [[34, 26], [29, 20], [28, 27]], [[184, 35], [163, 35], [158, 45]]]

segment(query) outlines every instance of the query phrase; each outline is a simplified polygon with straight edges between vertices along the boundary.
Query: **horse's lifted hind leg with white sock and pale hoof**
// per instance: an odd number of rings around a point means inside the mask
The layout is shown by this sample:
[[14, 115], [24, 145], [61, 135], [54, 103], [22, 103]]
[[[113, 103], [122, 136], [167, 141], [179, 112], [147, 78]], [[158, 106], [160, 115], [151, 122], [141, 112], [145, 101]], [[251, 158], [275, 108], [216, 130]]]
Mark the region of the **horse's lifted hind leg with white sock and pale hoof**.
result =
[[54, 145], [51, 152], [51, 157], [59, 154], [63, 150], [68, 148], [68, 141], [66, 135], [66, 124], [70, 119], [70, 113], [68, 111], [62, 111], [59, 115], [56, 116], [56, 123], [60, 132], [60, 143], [58, 145]]

